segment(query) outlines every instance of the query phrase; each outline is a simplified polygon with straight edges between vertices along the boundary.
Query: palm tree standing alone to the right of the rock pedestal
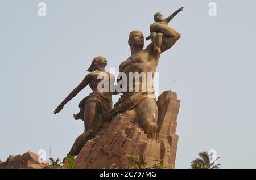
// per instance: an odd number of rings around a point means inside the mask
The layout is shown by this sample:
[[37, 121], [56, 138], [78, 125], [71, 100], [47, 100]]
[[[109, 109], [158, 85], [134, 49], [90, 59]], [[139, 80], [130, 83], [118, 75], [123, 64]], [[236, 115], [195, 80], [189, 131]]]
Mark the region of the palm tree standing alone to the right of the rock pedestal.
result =
[[[216, 158], [216, 160], [212, 161], [212, 153], [209, 153], [207, 151], [200, 152], [199, 154], [200, 158], [195, 158], [191, 162], [191, 168], [192, 169], [219, 169], [220, 163], [215, 164], [215, 162], [220, 158]], [[212, 162], [211, 162], [212, 161]]]

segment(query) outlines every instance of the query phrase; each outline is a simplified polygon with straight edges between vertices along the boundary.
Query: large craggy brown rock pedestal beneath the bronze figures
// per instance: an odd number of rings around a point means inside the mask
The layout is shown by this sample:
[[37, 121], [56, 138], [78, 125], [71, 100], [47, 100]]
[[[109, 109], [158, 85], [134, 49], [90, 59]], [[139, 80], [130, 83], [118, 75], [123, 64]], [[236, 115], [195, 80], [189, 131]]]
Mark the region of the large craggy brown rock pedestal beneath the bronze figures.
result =
[[174, 168], [178, 136], [175, 134], [180, 100], [165, 91], [158, 98], [158, 140], [149, 142], [134, 110], [118, 114], [77, 156], [76, 168], [129, 168], [130, 155], [146, 157], [147, 166]]

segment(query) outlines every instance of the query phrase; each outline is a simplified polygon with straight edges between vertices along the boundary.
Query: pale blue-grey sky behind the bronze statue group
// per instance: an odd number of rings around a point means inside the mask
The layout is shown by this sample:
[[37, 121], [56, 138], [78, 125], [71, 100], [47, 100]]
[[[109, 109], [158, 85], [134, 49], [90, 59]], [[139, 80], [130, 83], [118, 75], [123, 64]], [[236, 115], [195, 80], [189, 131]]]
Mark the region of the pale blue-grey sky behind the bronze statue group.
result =
[[[38, 3], [46, 16], [38, 16]], [[209, 16], [216, 2], [217, 16]], [[88, 72], [97, 55], [118, 70], [130, 56], [129, 32], [149, 35], [155, 12], [183, 36], [160, 58], [160, 92], [181, 100], [176, 168], [215, 149], [221, 168], [256, 168], [256, 2], [0, 1], [0, 159], [45, 149], [63, 158], [84, 130], [73, 120], [86, 87], [57, 115], [53, 110]], [[146, 42], [146, 45], [149, 42]], [[145, 45], [145, 47], [146, 47]], [[119, 95], [113, 97], [118, 100]]]

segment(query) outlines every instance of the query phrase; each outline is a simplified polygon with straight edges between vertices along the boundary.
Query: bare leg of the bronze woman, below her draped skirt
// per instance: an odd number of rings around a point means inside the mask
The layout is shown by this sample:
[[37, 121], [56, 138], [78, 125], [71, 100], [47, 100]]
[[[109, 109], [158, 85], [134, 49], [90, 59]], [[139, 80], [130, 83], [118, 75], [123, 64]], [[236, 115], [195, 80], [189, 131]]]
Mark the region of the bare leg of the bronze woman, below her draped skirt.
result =
[[93, 132], [93, 122], [97, 114], [97, 105], [95, 102], [88, 102], [85, 106], [84, 111], [84, 125], [85, 131], [80, 136], [78, 136], [73, 144], [68, 155], [77, 156], [81, 151], [84, 144], [92, 137]]

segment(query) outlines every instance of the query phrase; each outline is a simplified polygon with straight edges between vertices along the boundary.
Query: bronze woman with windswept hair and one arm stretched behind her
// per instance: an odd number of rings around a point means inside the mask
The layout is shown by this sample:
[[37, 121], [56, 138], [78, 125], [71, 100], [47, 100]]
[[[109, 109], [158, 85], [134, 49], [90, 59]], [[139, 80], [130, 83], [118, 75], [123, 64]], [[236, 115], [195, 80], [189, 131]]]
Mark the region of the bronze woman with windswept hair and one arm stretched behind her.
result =
[[[112, 91], [110, 91], [110, 87], [114, 86], [115, 78], [114, 75], [105, 72], [106, 65], [107, 61], [104, 57], [98, 56], [94, 58], [92, 65], [88, 69], [90, 73], [85, 76], [84, 80], [54, 111], [55, 114], [59, 113], [68, 101], [88, 84], [90, 85], [93, 92], [80, 101], [80, 112], [74, 114], [75, 119], [82, 119], [84, 121], [85, 131], [76, 139], [68, 155], [78, 155], [87, 140], [96, 136], [97, 132], [101, 130], [103, 123], [107, 121], [106, 118], [108, 118], [109, 111], [112, 108]], [[104, 77], [103, 80], [102, 76]], [[102, 81], [104, 81], [104, 85], [108, 85], [107, 91], [102, 92], [102, 89], [99, 89], [102, 87], [98, 87], [98, 84], [100, 82], [103, 84]]]

